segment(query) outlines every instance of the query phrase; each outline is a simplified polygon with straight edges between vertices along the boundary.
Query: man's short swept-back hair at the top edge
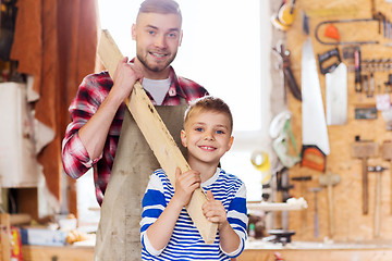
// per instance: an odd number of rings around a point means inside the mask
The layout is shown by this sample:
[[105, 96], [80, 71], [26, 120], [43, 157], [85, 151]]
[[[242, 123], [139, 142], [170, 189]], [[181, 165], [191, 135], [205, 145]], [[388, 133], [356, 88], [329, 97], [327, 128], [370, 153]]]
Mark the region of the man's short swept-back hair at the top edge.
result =
[[182, 20], [180, 5], [173, 0], [145, 0], [137, 16], [140, 13], [177, 14]]

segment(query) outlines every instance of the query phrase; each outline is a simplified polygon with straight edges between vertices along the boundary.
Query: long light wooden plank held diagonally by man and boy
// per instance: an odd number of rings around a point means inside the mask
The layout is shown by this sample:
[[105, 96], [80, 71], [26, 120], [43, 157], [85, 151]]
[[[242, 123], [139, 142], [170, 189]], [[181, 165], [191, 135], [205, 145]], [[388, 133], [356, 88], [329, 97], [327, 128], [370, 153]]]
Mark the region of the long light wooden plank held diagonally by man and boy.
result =
[[[108, 69], [109, 74], [114, 75], [117, 65], [123, 55], [108, 30], [102, 30], [98, 54], [106, 69]], [[138, 82], [135, 84], [132, 95], [125, 100], [125, 103], [157, 157], [158, 162], [174, 186], [175, 169], [180, 167], [182, 172], [186, 172], [191, 167]], [[211, 244], [217, 235], [218, 224], [209, 222], [204, 216], [201, 206], [206, 201], [206, 194], [201, 188], [198, 188], [194, 191], [188, 206], [186, 206], [186, 210], [205, 243]]]

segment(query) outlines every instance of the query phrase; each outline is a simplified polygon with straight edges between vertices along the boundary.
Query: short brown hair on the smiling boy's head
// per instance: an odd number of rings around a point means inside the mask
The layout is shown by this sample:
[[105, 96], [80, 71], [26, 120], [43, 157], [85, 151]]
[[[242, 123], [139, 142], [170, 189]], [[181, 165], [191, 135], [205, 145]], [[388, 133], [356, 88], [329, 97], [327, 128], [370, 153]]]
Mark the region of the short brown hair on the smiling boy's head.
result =
[[201, 111], [213, 111], [226, 114], [230, 122], [230, 132], [233, 130], [233, 115], [229, 105], [222, 99], [213, 96], [205, 96], [192, 101], [185, 111], [184, 125], [189, 120], [192, 114]]

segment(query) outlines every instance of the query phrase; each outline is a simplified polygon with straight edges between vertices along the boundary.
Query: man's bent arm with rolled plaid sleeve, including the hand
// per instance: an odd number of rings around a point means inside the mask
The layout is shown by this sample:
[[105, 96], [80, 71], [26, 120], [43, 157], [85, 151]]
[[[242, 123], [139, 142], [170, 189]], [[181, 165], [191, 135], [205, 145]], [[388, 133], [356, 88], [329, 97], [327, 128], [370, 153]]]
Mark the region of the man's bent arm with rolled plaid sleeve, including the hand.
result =
[[123, 59], [113, 76], [114, 84], [105, 74], [87, 76], [83, 80], [70, 107], [72, 122], [62, 144], [62, 161], [68, 175], [78, 178], [101, 158], [114, 115], [123, 97], [132, 90], [127, 86], [132, 86], [130, 84], [136, 77], [142, 77], [140, 73]]

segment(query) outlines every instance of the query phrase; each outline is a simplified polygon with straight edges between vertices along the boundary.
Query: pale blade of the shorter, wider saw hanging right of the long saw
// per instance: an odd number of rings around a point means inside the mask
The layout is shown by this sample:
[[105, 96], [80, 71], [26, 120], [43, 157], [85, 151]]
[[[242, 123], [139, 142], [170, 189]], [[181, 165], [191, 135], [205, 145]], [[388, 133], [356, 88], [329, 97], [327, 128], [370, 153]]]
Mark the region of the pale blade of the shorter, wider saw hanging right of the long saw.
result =
[[326, 74], [326, 111], [328, 125], [347, 123], [347, 66], [344, 63]]

